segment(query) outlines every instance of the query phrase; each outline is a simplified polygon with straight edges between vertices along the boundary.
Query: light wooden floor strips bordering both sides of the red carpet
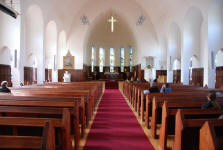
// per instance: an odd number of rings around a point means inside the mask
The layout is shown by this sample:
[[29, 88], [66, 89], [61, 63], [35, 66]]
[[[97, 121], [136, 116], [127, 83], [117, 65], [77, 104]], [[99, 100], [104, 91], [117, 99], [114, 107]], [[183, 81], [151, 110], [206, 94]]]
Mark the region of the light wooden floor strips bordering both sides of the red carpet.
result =
[[[122, 92], [122, 87], [123, 87], [123, 82], [119, 82], [119, 90]], [[123, 94], [124, 95], [124, 94]], [[125, 96], [124, 96], [125, 97]], [[125, 97], [125, 100], [126, 102], [128, 103], [129, 107], [131, 108], [131, 110], [134, 112], [138, 122], [140, 123], [141, 127], [143, 128], [143, 131], [145, 132], [145, 134], [147, 135], [148, 139], [150, 140], [151, 144], [153, 145], [153, 147], [156, 149], [156, 150], [160, 150], [160, 146], [159, 146], [159, 139], [154, 139], [152, 137], [152, 133], [151, 133], [151, 130], [146, 128], [145, 126], [145, 123], [141, 121], [140, 117], [137, 116], [137, 113], [134, 111], [133, 107], [131, 106], [131, 104], [129, 103], [129, 101], [127, 100], [127, 98]], [[100, 102], [99, 102], [100, 103]], [[98, 107], [97, 107], [98, 108]], [[90, 126], [89, 128], [86, 129], [85, 131], [85, 135], [84, 137], [81, 139], [80, 141], [80, 150], [83, 150], [84, 149], [84, 145], [87, 141], [87, 136], [90, 132], [90, 127], [93, 123], [93, 120], [95, 118], [95, 115], [97, 113], [97, 110], [94, 112], [94, 117], [93, 119], [90, 121]], [[159, 127], [158, 127], [158, 133], [159, 133]], [[173, 139], [174, 137], [173, 136], [168, 136], [168, 140], [167, 140], [167, 147], [171, 149], [171, 145], [173, 144]]]

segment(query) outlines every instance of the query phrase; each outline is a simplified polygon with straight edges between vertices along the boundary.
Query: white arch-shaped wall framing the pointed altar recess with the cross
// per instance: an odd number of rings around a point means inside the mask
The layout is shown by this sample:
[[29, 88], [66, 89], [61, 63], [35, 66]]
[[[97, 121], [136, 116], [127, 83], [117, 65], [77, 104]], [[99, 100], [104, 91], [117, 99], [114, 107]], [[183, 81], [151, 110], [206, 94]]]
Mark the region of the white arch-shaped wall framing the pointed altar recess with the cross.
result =
[[[98, 5], [100, 3], [100, 5]], [[87, 13], [86, 13], [86, 10]], [[83, 60], [84, 51], [89, 50], [87, 47], [88, 37], [91, 34], [91, 27], [97, 22], [98, 16], [105, 15], [106, 12], [112, 11], [118, 16], [125, 18], [125, 22], [128, 24], [134, 38], [136, 39], [134, 47], [135, 59], [134, 64], [142, 63], [144, 67], [145, 64], [142, 62], [144, 56], [157, 56], [159, 58], [159, 47], [157, 44], [157, 37], [154, 31], [153, 24], [150, 21], [150, 17], [143, 12], [143, 9], [134, 2], [134, 0], [108, 0], [108, 1], [89, 1], [83, 6], [78, 15], [74, 18], [72, 24], [72, 30], [68, 35], [68, 47], [71, 53], [75, 55], [75, 67], [81, 69], [83, 67], [83, 62], [87, 64], [87, 61]], [[142, 26], [136, 26], [137, 18], [145, 15], [146, 22]], [[79, 18], [83, 15], [87, 15], [90, 21], [90, 26], [82, 25]]]

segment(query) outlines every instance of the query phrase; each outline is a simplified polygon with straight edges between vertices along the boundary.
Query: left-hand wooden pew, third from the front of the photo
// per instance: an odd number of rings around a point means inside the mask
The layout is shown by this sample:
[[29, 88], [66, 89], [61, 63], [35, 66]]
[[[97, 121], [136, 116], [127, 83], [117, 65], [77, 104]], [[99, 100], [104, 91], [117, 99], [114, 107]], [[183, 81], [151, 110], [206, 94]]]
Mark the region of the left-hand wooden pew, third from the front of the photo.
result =
[[[23, 98], [23, 97], [21, 97]], [[6, 106], [6, 107], [4, 107]], [[45, 101], [45, 100], [38, 100], [38, 101], [32, 101], [32, 100], [0, 100], [0, 112], [3, 115], [7, 116], [62, 116], [64, 108], [67, 108], [70, 110], [70, 113], [66, 113], [67, 115], [63, 115], [64, 117], [64, 124], [70, 124], [69, 120], [72, 118], [72, 130], [74, 131], [74, 141], [75, 141], [75, 150], [79, 148], [79, 140], [80, 140], [80, 129], [79, 129], [79, 110], [78, 110], [79, 104], [78, 101], [76, 102], [61, 102], [61, 101]], [[71, 115], [69, 115], [71, 114]], [[69, 127], [69, 125], [66, 125]], [[65, 130], [66, 128], [63, 127], [63, 130], [68, 132], [70, 130], [69, 128]], [[66, 137], [71, 137], [68, 134]], [[70, 141], [70, 140], [66, 140]]]

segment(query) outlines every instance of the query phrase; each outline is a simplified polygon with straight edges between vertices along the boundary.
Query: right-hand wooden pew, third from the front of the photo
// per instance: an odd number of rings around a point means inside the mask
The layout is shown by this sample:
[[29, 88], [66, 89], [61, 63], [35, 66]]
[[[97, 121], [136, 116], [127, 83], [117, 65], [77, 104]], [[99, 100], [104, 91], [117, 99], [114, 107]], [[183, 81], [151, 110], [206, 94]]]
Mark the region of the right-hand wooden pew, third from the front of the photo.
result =
[[[198, 109], [194, 109], [196, 105], [198, 105]], [[162, 150], [167, 149], [166, 143], [168, 133], [174, 134], [175, 124], [173, 124], [173, 121], [175, 122], [175, 115], [179, 106], [181, 109], [183, 108], [184, 114], [187, 115], [196, 115], [197, 113], [199, 113], [217, 114], [219, 116], [223, 114], [223, 110], [200, 109], [199, 103], [196, 103], [196, 100], [195, 103], [184, 103], [184, 106], [179, 105], [178, 103], [168, 103], [167, 101], [165, 101], [162, 107], [162, 123], [159, 137], [159, 143]]]

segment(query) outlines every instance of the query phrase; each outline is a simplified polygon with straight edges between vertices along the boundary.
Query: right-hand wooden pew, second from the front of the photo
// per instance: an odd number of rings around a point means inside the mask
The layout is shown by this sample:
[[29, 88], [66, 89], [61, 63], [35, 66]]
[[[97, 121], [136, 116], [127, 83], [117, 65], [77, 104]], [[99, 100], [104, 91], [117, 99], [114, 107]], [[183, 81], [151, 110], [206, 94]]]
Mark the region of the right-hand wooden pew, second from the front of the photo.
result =
[[[219, 120], [216, 116], [214, 118], [202, 118], [200, 115], [204, 115], [204, 113], [200, 114], [199, 111], [196, 114], [190, 114], [191, 116], [189, 117], [186, 117], [185, 115], [184, 110], [178, 110], [176, 115], [173, 150], [199, 149], [199, 131], [202, 125], [206, 121], [215, 122]], [[196, 118], [196, 116], [198, 117]]]

